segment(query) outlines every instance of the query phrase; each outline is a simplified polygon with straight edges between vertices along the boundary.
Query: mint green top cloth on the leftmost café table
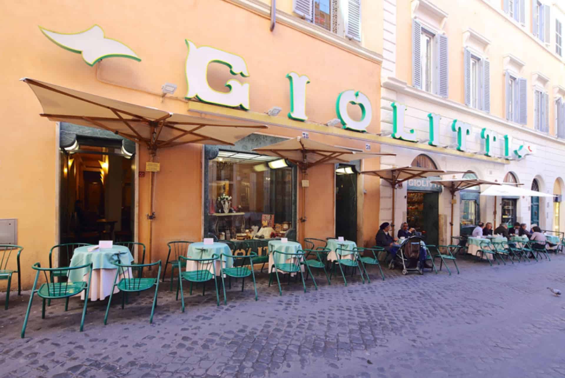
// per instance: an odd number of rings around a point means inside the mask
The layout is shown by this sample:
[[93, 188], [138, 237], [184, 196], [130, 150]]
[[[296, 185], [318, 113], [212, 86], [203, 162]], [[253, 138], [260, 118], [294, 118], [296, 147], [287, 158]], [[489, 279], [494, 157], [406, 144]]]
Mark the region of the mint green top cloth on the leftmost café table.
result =
[[[116, 269], [114, 263], [118, 262], [118, 255], [122, 264], [128, 265], [133, 262], [133, 256], [127, 246], [114, 245], [112, 248], [96, 249], [89, 252], [88, 248], [90, 247], [92, 247], [92, 245], [85, 245], [76, 248], [75, 251], [73, 251], [69, 267], [77, 267], [92, 263], [93, 269]], [[80, 282], [86, 273], [88, 273], [88, 268], [69, 271], [69, 281]]]

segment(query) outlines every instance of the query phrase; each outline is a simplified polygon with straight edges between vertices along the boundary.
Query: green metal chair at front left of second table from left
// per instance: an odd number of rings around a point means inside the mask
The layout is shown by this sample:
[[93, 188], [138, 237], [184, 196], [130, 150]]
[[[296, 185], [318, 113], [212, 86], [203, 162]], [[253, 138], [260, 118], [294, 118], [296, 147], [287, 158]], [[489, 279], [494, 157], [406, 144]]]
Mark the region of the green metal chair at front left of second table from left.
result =
[[[205, 248], [201, 249], [201, 257], [203, 256]], [[179, 281], [177, 282], [177, 295], [176, 300], [179, 300], [179, 289], [182, 299], [182, 312], [184, 312], [184, 292], [182, 292], [182, 280], [190, 282], [190, 293], [192, 296], [192, 284], [202, 283], [202, 296], [204, 296], [206, 291], [206, 282], [214, 280], [216, 286], [216, 303], [220, 306], [220, 296], [218, 294], [218, 280], [216, 279], [216, 260], [218, 260], [218, 254], [212, 254], [211, 258], [200, 258], [194, 259], [190, 257], [179, 256], [179, 261], [177, 262], [177, 268], [179, 269]], [[182, 267], [186, 267], [188, 261], [193, 261], [196, 263], [197, 270], [194, 271], [184, 271]], [[212, 269], [212, 272], [210, 272]]]

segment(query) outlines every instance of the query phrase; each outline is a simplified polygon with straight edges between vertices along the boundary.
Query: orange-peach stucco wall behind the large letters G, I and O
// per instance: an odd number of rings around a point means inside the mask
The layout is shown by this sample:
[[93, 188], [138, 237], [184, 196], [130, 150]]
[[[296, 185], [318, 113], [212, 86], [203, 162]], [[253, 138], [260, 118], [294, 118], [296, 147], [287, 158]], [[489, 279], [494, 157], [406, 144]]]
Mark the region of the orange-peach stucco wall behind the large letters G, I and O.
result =
[[[49, 248], [58, 241], [56, 218], [56, 132], [55, 123], [38, 116], [41, 106], [23, 76], [51, 82], [84, 92], [163, 110], [186, 113], [182, 99], [186, 92], [184, 39], [197, 46], [208, 45], [244, 57], [250, 77], [251, 111], [264, 112], [282, 107], [279, 117], [289, 111], [289, 84], [286, 73], [310, 76], [307, 87], [307, 114], [310, 120], [325, 123], [335, 118], [337, 95], [347, 89], [365, 93], [372, 102], [373, 120], [368, 128], [379, 131], [380, 64], [358, 57], [327, 42], [307, 36], [285, 25], [269, 32], [269, 20], [223, 0], [183, 0], [146, 6], [130, 6], [121, 1], [37, 3], [22, 0], [3, 10], [0, 32], [10, 38], [0, 42], [5, 51], [0, 61], [0, 116], [5, 125], [0, 150], [0, 179], [5, 185], [0, 195], [0, 218], [18, 218], [22, 254], [23, 283], [29, 288], [32, 270], [39, 261], [47, 264]], [[141, 57], [141, 62], [123, 58], [105, 59], [90, 67], [79, 54], [64, 50], [49, 40], [38, 25], [61, 33], [83, 31], [99, 24], [107, 37], [122, 41]], [[367, 24], [367, 23], [366, 23]], [[375, 38], [378, 39], [377, 33]], [[380, 43], [380, 42], [379, 42]], [[378, 48], [379, 43], [373, 46]], [[98, 76], [98, 77], [97, 77]], [[210, 67], [212, 86], [229, 75], [223, 66]], [[221, 79], [221, 80], [220, 80]], [[223, 80], [223, 81], [222, 81]], [[179, 86], [175, 97], [161, 102], [160, 86]], [[223, 108], [217, 107], [219, 114]], [[244, 111], [242, 111], [242, 114]], [[297, 129], [271, 127], [277, 136], [294, 137]], [[310, 134], [310, 138], [341, 146], [364, 148], [360, 141]], [[372, 146], [372, 151], [378, 151]], [[147, 150], [140, 146], [140, 169], [144, 170]], [[378, 159], [376, 159], [378, 160]], [[178, 238], [202, 237], [202, 146], [181, 146], [160, 150], [156, 161], [161, 171], [155, 176], [153, 260], [166, 258], [166, 242]], [[306, 232], [312, 236], [334, 233], [332, 166], [317, 167], [310, 173]], [[367, 182], [367, 181], [366, 181]], [[378, 183], [371, 183], [375, 193]], [[314, 190], [312, 190], [314, 189]], [[148, 242], [149, 178], [139, 180], [139, 239]], [[371, 199], [374, 216], [365, 212], [365, 224], [378, 219], [378, 194]], [[329, 201], [329, 202], [328, 202]], [[324, 206], [331, 203], [332, 206]], [[301, 210], [298, 210], [301, 214]], [[368, 227], [368, 226], [367, 226]], [[372, 231], [371, 231], [372, 232]], [[13, 285], [12, 285], [13, 286]]]

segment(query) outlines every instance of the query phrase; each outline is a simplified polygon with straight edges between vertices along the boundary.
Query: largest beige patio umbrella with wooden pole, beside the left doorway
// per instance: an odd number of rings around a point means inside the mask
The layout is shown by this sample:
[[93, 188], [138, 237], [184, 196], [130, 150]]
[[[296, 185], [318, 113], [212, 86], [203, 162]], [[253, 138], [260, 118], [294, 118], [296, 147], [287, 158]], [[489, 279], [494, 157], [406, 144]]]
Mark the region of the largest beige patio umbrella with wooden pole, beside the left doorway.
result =
[[[51, 121], [100, 128], [145, 145], [153, 162], [157, 150], [189, 143], [233, 145], [265, 125], [174, 114], [80, 92], [34, 79], [29, 85], [43, 107], [42, 117]], [[149, 176], [149, 262], [153, 238], [153, 173]]]

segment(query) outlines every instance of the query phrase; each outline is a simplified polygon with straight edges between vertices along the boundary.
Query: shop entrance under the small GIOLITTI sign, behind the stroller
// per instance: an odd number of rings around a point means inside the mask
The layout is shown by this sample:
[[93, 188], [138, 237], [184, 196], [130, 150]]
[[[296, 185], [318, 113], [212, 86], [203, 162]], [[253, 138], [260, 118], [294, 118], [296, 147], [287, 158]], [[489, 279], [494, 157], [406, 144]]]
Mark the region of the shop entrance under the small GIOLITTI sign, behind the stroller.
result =
[[437, 245], [439, 240], [439, 193], [407, 193], [406, 221], [425, 237], [426, 244]]

